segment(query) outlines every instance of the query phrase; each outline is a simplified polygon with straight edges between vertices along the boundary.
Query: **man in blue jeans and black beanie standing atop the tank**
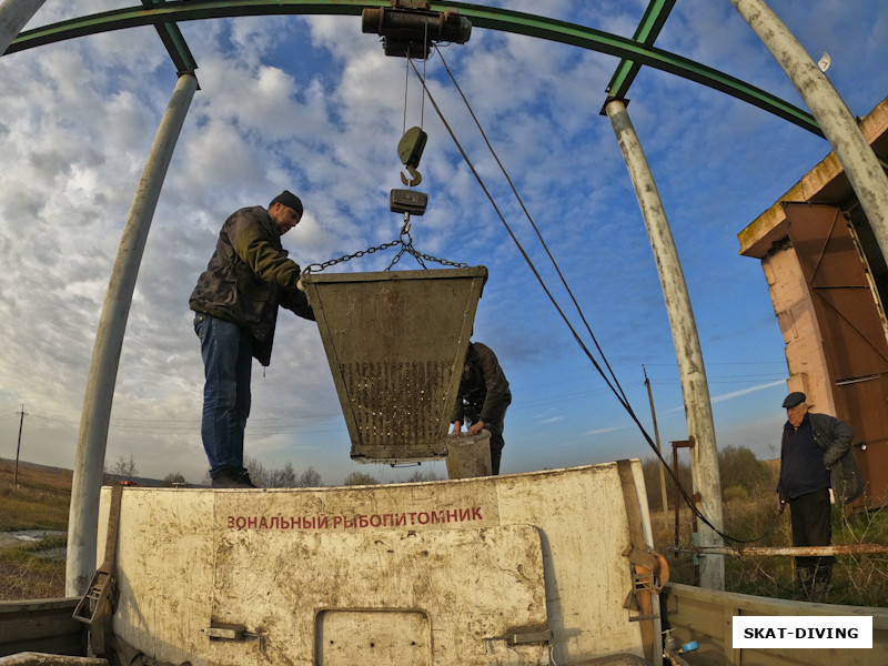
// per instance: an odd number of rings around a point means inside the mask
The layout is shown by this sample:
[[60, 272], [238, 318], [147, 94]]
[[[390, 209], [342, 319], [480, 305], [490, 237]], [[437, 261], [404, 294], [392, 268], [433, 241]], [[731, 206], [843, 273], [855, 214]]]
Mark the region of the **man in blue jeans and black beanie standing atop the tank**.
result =
[[213, 487], [255, 487], [243, 466], [250, 375], [253, 357], [264, 366], [271, 361], [279, 305], [314, 320], [296, 289], [299, 264], [281, 245], [281, 236], [301, 218], [302, 202], [286, 190], [268, 210], [256, 205], [234, 212], [189, 300], [206, 379], [201, 438]]

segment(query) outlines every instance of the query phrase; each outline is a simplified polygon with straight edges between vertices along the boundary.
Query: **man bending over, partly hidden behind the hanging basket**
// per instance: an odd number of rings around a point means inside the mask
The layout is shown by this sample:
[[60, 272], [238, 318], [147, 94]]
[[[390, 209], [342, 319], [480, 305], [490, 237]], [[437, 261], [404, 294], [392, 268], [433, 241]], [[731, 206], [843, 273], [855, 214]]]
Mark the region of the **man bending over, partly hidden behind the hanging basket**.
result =
[[503, 455], [503, 428], [506, 408], [512, 402], [508, 381], [500, 367], [491, 349], [480, 342], [468, 344], [463, 376], [456, 404], [451, 415], [453, 434], [460, 434], [463, 423], [468, 425], [468, 434], [476, 435], [482, 430], [491, 433], [491, 471], [500, 474], [500, 460]]

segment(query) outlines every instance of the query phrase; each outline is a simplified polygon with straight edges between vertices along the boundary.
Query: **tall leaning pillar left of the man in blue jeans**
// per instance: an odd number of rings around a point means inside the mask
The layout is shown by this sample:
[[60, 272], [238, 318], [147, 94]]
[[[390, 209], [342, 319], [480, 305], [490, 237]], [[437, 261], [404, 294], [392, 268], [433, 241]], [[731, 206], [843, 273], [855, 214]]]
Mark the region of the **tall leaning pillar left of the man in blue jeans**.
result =
[[68, 596], [82, 596], [95, 572], [99, 492], [104, 475], [108, 426], [120, 352], [123, 347], [123, 334], [127, 330], [127, 319], [151, 220], [175, 142], [196, 88], [198, 80], [194, 74], [186, 73], [179, 77], [135, 190], [108, 284], [92, 351], [90, 374], [87, 379], [74, 458], [65, 571]]

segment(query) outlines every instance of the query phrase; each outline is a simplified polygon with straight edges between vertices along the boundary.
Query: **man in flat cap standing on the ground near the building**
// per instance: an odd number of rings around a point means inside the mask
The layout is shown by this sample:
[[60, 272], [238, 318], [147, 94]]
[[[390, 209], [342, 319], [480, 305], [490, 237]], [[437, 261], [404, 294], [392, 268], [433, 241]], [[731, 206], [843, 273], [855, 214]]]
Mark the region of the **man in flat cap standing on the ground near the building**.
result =
[[[850, 446], [854, 430], [828, 414], [808, 411], [801, 392], [784, 400], [788, 421], [780, 446], [780, 509], [789, 504], [794, 546], [828, 546], [833, 539], [830, 487], [845, 506], [862, 493]], [[855, 477], [856, 474], [856, 477]], [[795, 597], [820, 602], [836, 558], [796, 557]]]

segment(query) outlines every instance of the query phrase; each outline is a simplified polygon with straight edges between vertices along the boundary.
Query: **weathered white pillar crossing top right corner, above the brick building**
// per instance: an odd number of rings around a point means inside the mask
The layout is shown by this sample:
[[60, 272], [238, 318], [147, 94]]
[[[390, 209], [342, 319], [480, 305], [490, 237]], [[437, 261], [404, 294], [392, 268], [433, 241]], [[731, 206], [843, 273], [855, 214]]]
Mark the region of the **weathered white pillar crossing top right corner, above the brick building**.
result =
[[888, 176], [845, 101], [764, 0], [730, 0], [730, 3], [758, 34], [805, 100], [841, 162], [882, 255], [888, 258]]

